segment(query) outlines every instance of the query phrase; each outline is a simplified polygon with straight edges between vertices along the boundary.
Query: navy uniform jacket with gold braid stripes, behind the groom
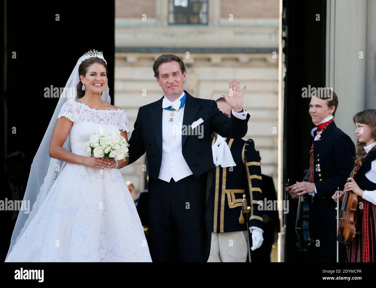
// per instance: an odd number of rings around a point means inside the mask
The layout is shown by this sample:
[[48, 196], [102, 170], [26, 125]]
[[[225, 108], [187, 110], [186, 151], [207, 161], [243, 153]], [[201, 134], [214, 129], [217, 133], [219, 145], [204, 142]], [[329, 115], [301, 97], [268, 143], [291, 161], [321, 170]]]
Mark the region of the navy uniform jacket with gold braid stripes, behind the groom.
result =
[[[216, 137], [213, 138], [212, 145], [215, 140]], [[239, 223], [243, 194], [246, 194], [247, 204], [251, 207], [249, 227], [255, 226], [262, 229], [263, 211], [258, 210], [261, 204], [259, 202], [261, 200], [261, 166], [254, 142], [249, 139], [246, 145], [243, 139], [227, 138], [226, 143], [236, 166], [222, 168], [218, 165], [214, 168], [207, 202], [207, 209], [211, 209], [210, 213], [213, 215], [212, 232], [247, 230], [244, 214], [244, 224]], [[246, 155], [246, 163], [244, 163], [244, 155]]]

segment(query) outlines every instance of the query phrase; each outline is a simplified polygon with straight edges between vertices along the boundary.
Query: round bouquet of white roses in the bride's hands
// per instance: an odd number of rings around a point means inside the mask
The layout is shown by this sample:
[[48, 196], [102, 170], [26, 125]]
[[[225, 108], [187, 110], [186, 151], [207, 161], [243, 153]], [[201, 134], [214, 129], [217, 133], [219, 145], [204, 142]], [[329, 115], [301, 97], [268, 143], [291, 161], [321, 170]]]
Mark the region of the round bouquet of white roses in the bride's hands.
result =
[[[99, 131], [92, 134], [89, 137], [89, 141], [85, 142], [85, 152], [90, 153], [90, 156], [102, 158], [106, 156], [108, 158], [114, 158], [115, 160], [128, 157], [129, 144], [120, 131], [106, 130], [103, 127], [99, 127]], [[103, 169], [100, 170], [100, 174], [103, 174]]]

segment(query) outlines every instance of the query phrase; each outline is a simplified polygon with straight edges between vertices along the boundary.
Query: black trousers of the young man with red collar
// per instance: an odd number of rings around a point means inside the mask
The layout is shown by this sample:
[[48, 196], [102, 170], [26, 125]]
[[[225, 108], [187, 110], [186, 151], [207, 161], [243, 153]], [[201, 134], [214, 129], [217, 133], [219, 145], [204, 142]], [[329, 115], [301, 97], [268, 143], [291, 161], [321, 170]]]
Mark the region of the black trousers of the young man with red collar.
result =
[[[337, 203], [309, 203], [309, 236], [314, 239], [307, 251], [308, 262], [337, 262]], [[341, 207], [341, 206], [340, 206]], [[339, 262], [346, 262], [346, 247], [338, 245]]]

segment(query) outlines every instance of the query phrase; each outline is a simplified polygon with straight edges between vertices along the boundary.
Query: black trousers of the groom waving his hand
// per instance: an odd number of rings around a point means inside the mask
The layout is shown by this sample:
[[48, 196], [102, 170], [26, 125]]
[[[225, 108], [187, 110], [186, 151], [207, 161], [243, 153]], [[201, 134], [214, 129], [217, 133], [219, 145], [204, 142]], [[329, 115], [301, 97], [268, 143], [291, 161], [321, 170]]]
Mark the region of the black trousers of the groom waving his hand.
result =
[[149, 177], [149, 249], [153, 262], [203, 262], [206, 176], [175, 182]]

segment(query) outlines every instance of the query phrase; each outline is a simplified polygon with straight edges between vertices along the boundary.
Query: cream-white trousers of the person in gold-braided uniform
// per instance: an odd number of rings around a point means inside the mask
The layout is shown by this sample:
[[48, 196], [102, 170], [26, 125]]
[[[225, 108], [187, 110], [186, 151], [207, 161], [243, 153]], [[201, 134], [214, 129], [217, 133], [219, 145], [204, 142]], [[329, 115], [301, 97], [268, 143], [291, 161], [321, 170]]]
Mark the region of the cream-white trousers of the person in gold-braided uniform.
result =
[[208, 262], [246, 262], [247, 231], [212, 232]]

